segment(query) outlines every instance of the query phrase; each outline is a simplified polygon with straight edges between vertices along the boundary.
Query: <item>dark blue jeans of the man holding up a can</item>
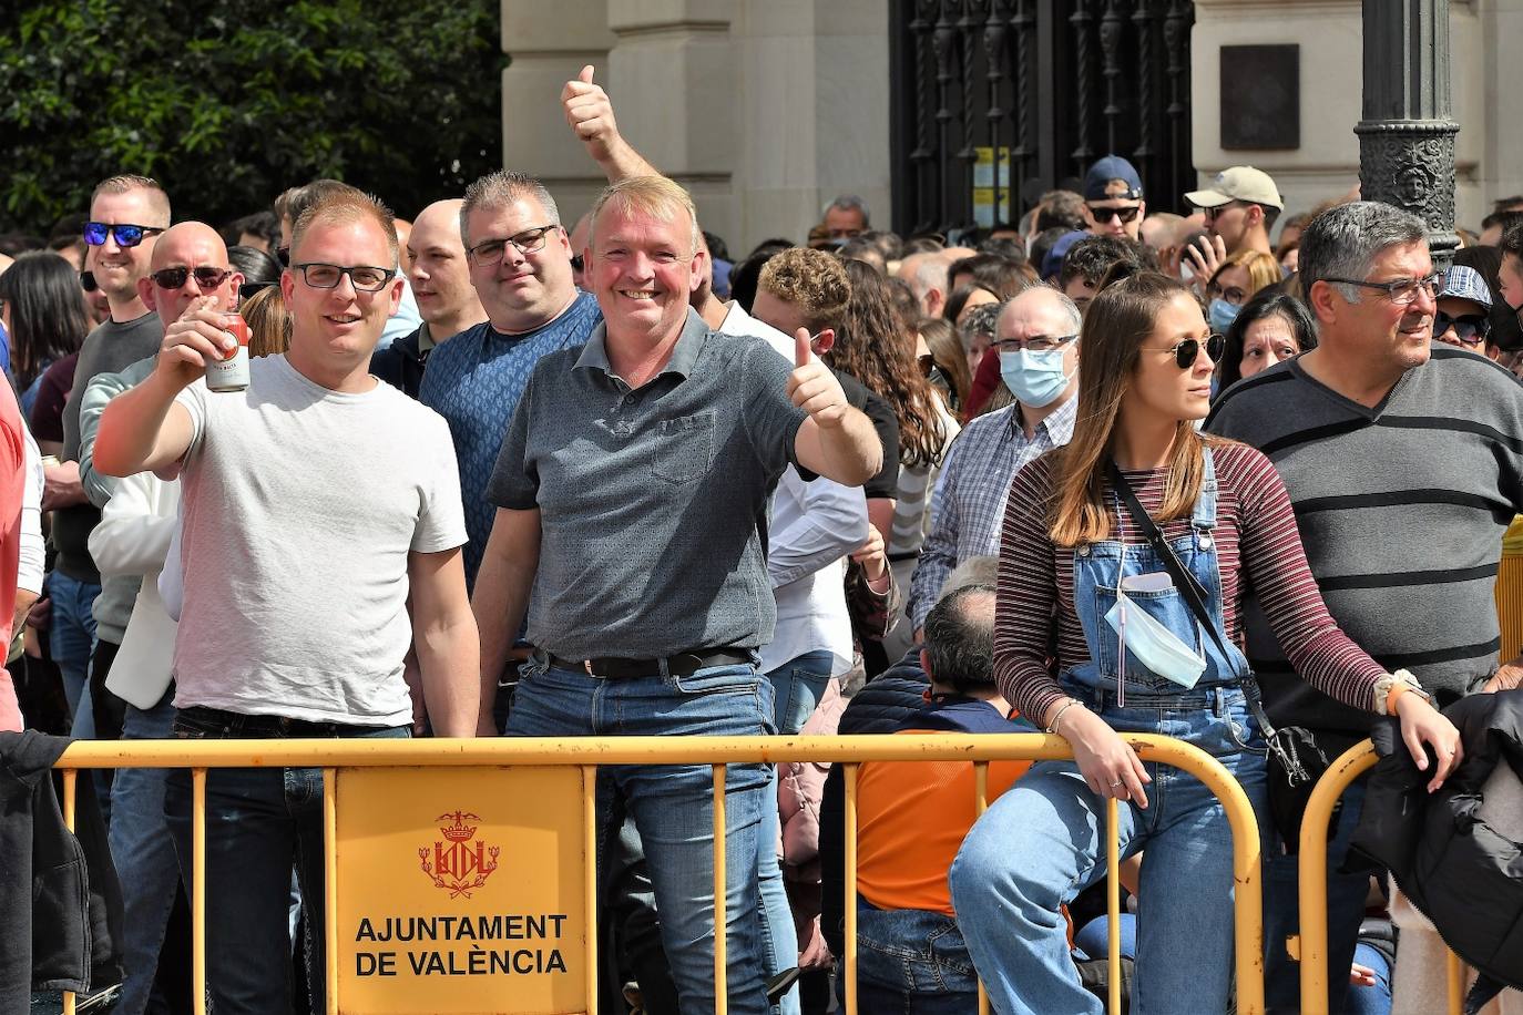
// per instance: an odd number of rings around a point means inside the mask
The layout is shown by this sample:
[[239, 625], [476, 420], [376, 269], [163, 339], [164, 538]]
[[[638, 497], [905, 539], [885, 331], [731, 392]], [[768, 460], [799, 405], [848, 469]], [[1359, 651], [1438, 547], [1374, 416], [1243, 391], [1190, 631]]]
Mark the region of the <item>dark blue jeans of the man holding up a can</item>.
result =
[[[280, 737], [273, 717], [190, 709], [175, 718], [180, 740]], [[289, 737], [407, 738], [408, 726], [292, 724]], [[164, 816], [190, 884], [190, 772], [175, 768]], [[326, 995], [323, 940], [323, 770], [212, 768], [206, 781], [206, 977], [218, 1015], [291, 1012], [291, 867], [306, 905], [308, 991], [312, 1010]]]

